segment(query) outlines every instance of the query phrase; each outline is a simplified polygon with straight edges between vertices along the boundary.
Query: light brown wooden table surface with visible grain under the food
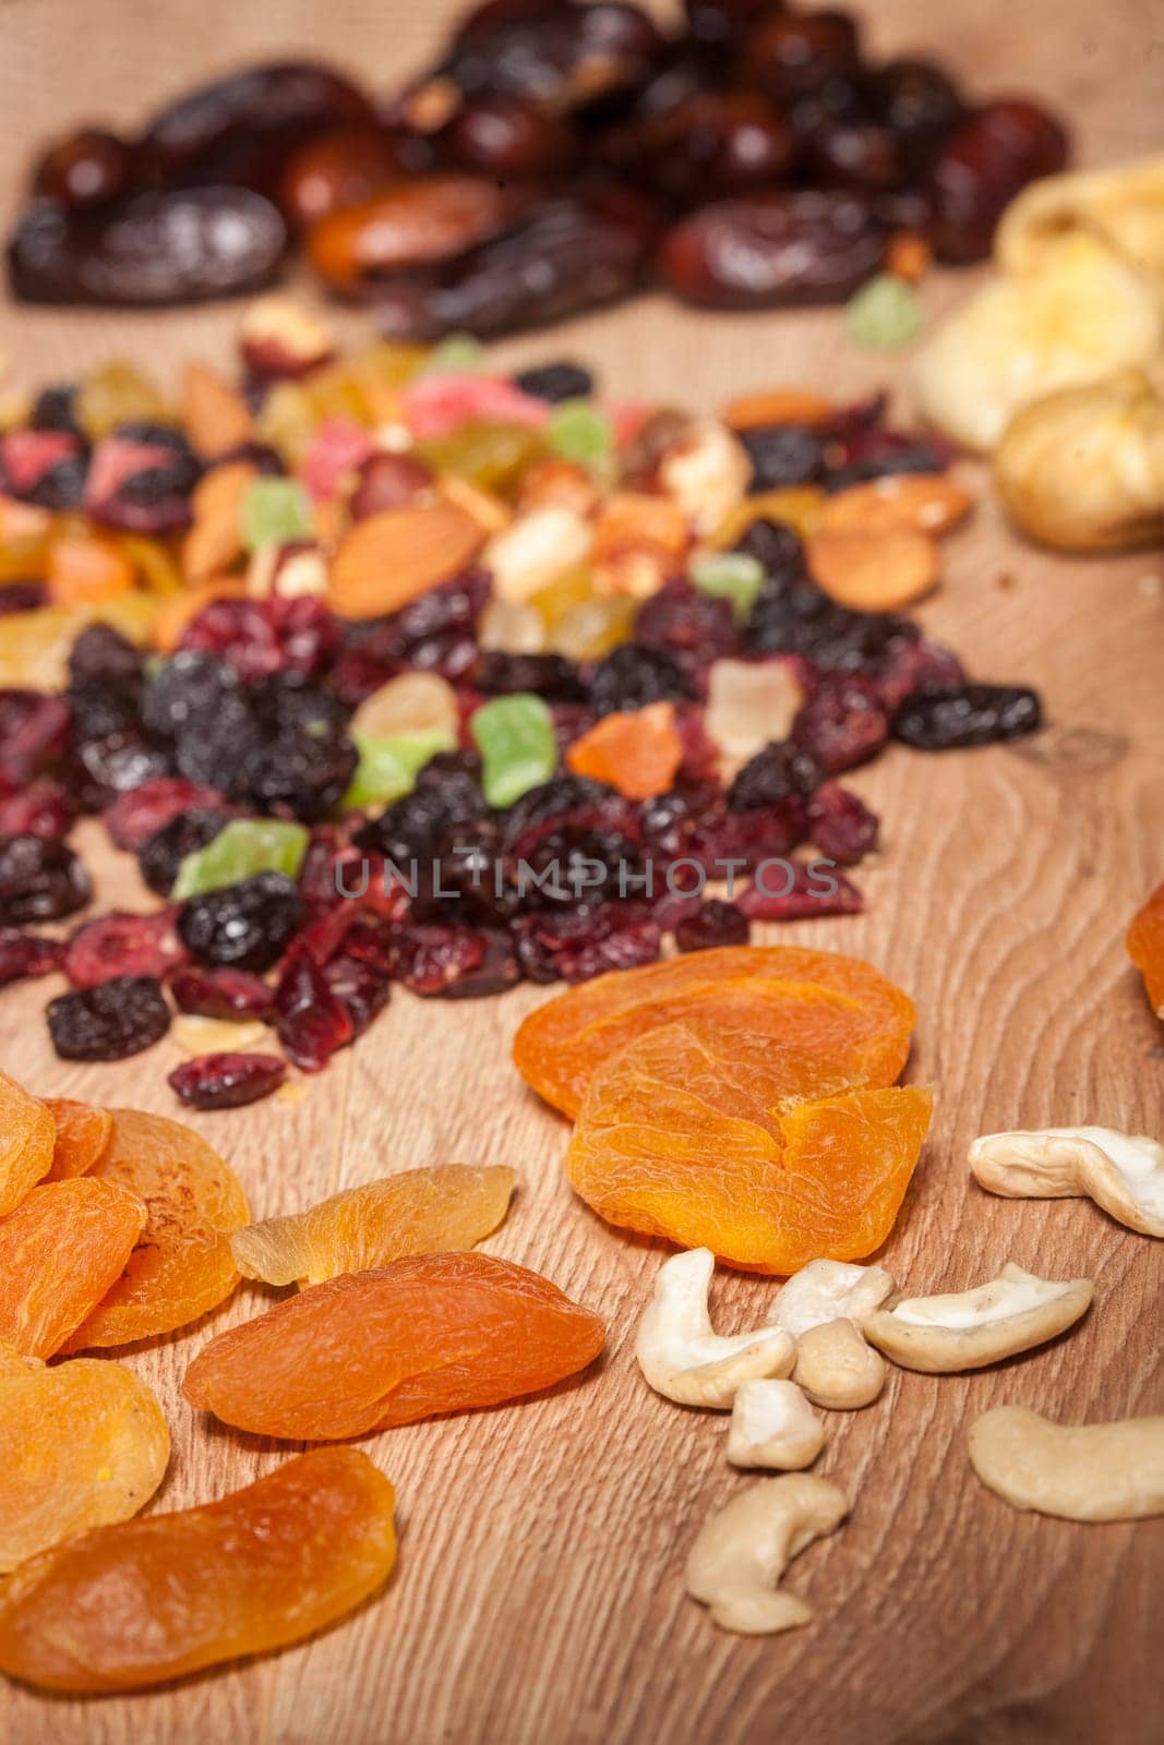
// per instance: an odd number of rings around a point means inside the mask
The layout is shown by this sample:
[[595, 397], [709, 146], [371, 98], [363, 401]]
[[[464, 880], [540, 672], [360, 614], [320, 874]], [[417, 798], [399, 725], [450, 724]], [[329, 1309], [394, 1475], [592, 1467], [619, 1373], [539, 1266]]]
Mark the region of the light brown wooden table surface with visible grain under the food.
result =
[[[194, 75], [276, 49], [325, 51], [387, 86], [419, 65], [445, 5], [407, 0], [5, 0], [0, 7], [0, 208], [31, 145], [77, 119], [133, 122]], [[873, 10], [873, 9], [869, 9]], [[976, 89], [1045, 92], [1080, 157], [1159, 147], [1161, 0], [885, 0], [880, 51], [939, 51]], [[927, 284], [932, 311], [967, 279]], [[164, 316], [3, 307], [19, 375], [66, 375], [145, 351], [161, 370], [223, 354], [237, 311]], [[353, 325], [353, 323], [349, 323]], [[714, 405], [796, 380], [838, 396], [902, 375], [855, 352], [834, 312], [707, 318], [663, 298], [504, 347], [574, 352], [621, 393]], [[899, 398], [906, 410], [904, 391]], [[974, 469], [970, 469], [974, 471]], [[1019, 1515], [974, 1478], [965, 1426], [1017, 1401], [1065, 1420], [1159, 1412], [1161, 1253], [1089, 1202], [991, 1199], [967, 1176], [984, 1131], [1105, 1122], [1164, 1129], [1164, 1033], [1122, 934], [1164, 874], [1161, 553], [1068, 562], [1014, 541], [984, 503], [946, 546], [923, 611], [981, 677], [1024, 679], [1052, 729], [1037, 743], [946, 757], [892, 750], [852, 778], [883, 817], [855, 920], [785, 941], [871, 958], [918, 1003], [907, 1077], [935, 1087], [928, 1145], [883, 1260], [913, 1291], [956, 1290], [1014, 1258], [1089, 1274], [1096, 1304], [1063, 1340], [967, 1377], [894, 1370], [883, 1398], [829, 1417], [818, 1469], [852, 1522], [808, 1551], [791, 1586], [815, 1623], [768, 1640], [719, 1635], [684, 1598], [686, 1548], [743, 1483], [722, 1419], [651, 1394], [633, 1328], [663, 1258], [602, 1225], [564, 1180], [567, 1129], [518, 1082], [510, 1042], [543, 993], [480, 1005], [396, 995], [372, 1035], [298, 1105], [192, 1117], [230, 1159], [257, 1216], [309, 1206], [391, 1169], [510, 1162], [520, 1194], [490, 1251], [553, 1277], [609, 1321], [595, 1372], [504, 1410], [417, 1424], [363, 1447], [398, 1487], [389, 1590], [321, 1639], [181, 1687], [45, 1701], [0, 1689], [9, 1745], [1058, 1745], [1157, 1740], [1164, 1523], [1085, 1527]], [[2, 630], [0, 630], [2, 635]], [[103, 895], [133, 906], [124, 857]], [[775, 932], [775, 930], [773, 930]], [[0, 996], [0, 1063], [45, 1092], [175, 1113], [162, 1044], [119, 1068], [54, 1059], [42, 988]], [[771, 1286], [722, 1277], [726, 1328]], [[154, 1508], [222, 1495], [290, 1452], [181, 1403], [190, 1356], [265, 1305], [243, 1288], [204, 1324], [133, 1349], [159, 1391], [175, 1454]], [[1155, 1605], [1155, 1630], [1152, 1628]]]

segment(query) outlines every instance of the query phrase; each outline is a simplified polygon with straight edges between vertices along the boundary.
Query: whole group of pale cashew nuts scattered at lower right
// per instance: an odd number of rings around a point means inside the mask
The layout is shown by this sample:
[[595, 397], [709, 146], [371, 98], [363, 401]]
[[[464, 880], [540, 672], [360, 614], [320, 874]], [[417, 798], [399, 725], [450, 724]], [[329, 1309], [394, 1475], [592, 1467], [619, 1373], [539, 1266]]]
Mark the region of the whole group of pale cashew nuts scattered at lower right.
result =
[[[1091, 1195], [1133, 1230], [1164, 1235], [1164, 1146], [1106, 1127], [988, 1134], [970, 1146], [979, 1183], [1009, 1197]], [[885, 1267], [813, 1260], [777, 1291], [764, 1323], [721, 1335], [709, 1312], [716, 1256], [663, 1262], [635, 1354], [654, 1393], [729, 1412], [728, 1461], [777, 1471], [700, 1529], [686, 1567], [691, 1598], [721, 1630], [770, 1635], [811, 1607], [780, 1588], [789, 1562], [848, 1515], [831, 1480], [805, 1471], [825, 1445], [825, 1410], [871, 1405], [890, 1358], [928, 1375], [977, 1370], [1056, 1338], [1087, 1312], [1091, 1279], [1044, 1279], [1009, 1260], [963, 1291], [904, 1297]], [[970, 1424], [969, 1457], [1016, 1509], [1066, 1520], [1164, 1513], [1164, 1417], [1056, 1424], [996, 1406]]]

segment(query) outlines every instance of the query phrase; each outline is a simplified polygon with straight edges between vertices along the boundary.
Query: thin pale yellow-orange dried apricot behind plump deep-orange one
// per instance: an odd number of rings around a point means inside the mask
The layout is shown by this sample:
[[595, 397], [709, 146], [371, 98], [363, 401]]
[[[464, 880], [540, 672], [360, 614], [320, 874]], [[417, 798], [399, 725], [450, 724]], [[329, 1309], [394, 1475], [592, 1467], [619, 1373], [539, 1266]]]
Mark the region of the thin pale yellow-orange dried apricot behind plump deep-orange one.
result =
[[246, 1279], [321, 1284], [403, 1255], [473, 1248], [503, 1222], [513, 1194], [504, 1164], [431, 1164], [333, 1194], [309, 1211], [248, 1223], [230, 1237]]

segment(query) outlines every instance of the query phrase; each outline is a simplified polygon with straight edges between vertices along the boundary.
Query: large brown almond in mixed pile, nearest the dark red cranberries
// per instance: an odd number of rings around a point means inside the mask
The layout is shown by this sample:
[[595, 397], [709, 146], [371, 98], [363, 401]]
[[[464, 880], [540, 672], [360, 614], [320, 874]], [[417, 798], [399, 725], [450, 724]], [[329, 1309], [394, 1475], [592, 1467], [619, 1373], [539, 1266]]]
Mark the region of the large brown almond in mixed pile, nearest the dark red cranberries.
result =
[[332, 558], [328, 604], [340, 618], [380, 618], [450, 581], [485, 541], [466, 510], [447, 497], [382, 510], [358, 522]]

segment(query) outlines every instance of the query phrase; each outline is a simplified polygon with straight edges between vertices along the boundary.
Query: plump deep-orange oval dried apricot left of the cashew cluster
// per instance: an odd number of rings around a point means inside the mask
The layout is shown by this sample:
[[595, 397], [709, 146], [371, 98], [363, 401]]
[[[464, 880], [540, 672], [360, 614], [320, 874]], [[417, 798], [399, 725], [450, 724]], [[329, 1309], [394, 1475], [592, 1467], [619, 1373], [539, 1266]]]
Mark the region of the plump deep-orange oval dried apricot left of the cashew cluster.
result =
[[330, 1441], [537, 1393], [604, 1344], [597, 1314], [525, 1267], [410, 1255], [229, 1328], [181, 1391], [237, 1429]]

